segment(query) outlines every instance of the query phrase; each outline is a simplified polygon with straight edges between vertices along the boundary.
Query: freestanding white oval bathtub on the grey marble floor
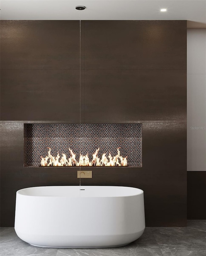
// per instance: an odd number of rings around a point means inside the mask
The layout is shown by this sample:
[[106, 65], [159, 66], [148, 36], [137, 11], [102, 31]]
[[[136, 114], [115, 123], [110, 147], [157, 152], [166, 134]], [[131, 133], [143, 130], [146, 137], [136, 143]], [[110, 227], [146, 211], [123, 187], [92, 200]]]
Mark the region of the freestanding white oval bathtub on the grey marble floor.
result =
[[[81, 190], [80, 190], [81, 189]], [[42, 247], [115, 247], [145, 230], [143, 190], [51, 186], [16, 192], [15, 231]]]

